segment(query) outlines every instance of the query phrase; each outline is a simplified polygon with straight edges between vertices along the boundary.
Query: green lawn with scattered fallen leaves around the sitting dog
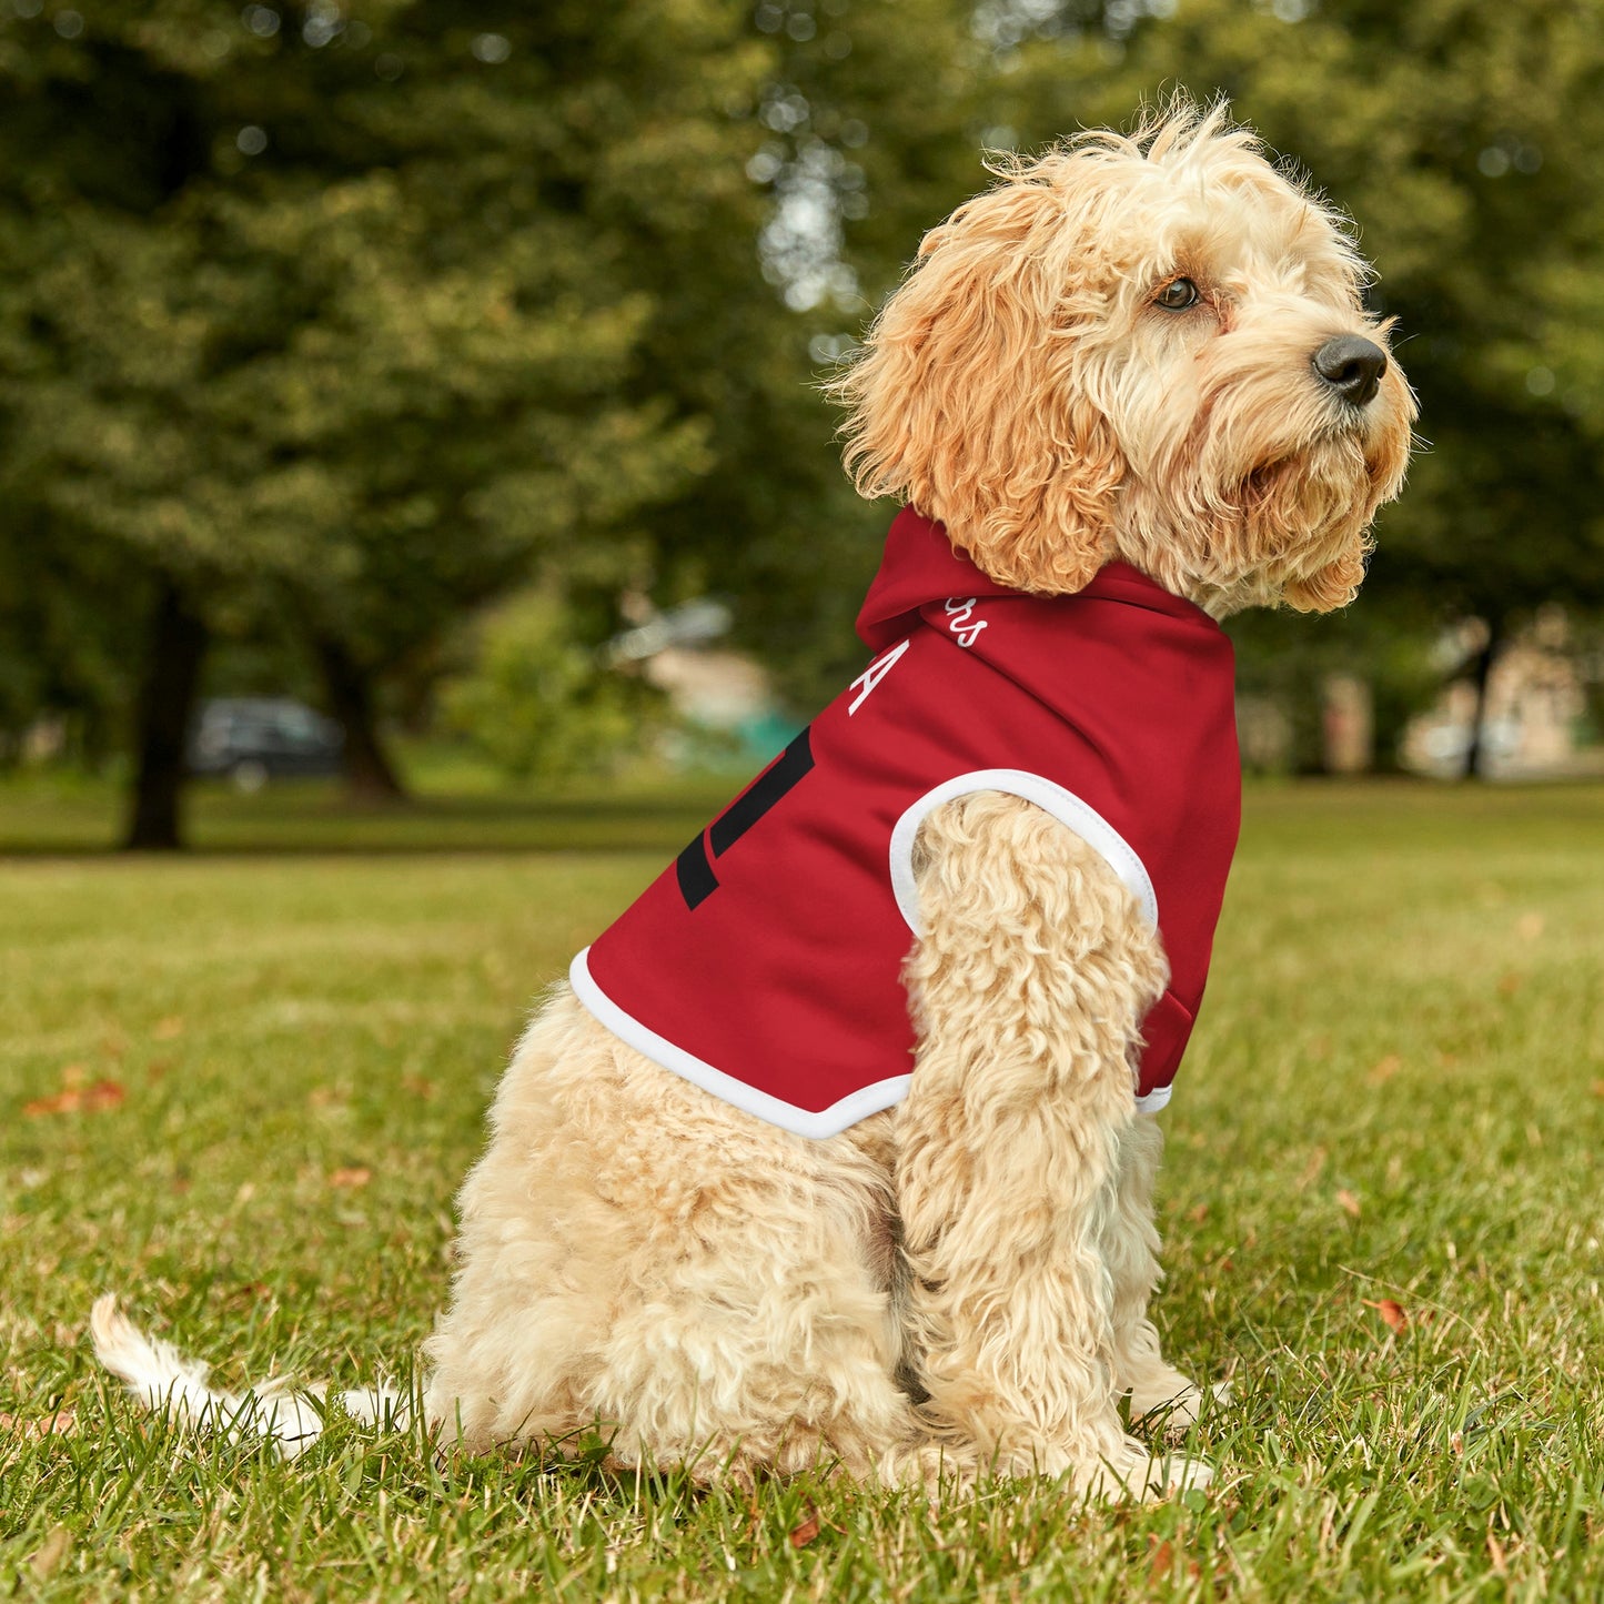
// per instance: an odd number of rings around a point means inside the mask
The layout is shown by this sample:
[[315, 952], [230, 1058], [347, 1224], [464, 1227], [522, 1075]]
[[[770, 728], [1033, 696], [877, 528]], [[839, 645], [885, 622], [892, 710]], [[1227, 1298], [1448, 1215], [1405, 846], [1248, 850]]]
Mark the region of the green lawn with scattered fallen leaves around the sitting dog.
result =
[[1250, 792], [1165, 1115], [1208, 1495], [747, 1500], [343, 1420], [286, 1466], [96, 1376], [104, 1288], [228, 1384], [404, 1376], [531, 998], [712, 802], [215, 796], [213, 852], [140, 861], [0, 794], [80, 853], [0, 863], [0, 1596], [1604, 1596], [1599, 788]]

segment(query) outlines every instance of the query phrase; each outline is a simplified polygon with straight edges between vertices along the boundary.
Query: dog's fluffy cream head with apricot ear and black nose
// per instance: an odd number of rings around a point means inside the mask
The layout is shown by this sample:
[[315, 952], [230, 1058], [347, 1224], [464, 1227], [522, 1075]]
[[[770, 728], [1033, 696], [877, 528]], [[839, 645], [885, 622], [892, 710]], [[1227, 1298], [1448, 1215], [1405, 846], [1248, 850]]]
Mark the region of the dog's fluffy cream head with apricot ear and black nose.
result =
[[847, 464], [1023, 590], [1123, 557], [1217, 614], [1343, 606], [1415, 417], [1365, 271], [1224, 107], [1011, 160], [836, 382]]

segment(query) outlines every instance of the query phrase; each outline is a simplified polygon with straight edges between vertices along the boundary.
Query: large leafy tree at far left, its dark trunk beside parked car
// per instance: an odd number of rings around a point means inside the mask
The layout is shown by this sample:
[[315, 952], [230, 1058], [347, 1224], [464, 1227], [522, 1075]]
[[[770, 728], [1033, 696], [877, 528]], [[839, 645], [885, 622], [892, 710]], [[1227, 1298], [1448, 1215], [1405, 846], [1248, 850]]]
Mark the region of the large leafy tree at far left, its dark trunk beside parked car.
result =
[[[722, 106], [764, 48], [715, 0], [504, 14], [0, 24], [0, 488], [141, 576], [133, 845], [178, 840], [170, 699], [220, 619], [290, 611], [361, 725], [541, 560], [638, 565], [632, 518], [711, 467], [638, 359], [658, 308], [614, 213], [645, 184], [704, 244], [755, 233]], [[26, 585], [38, 549], [11, 555]]]

